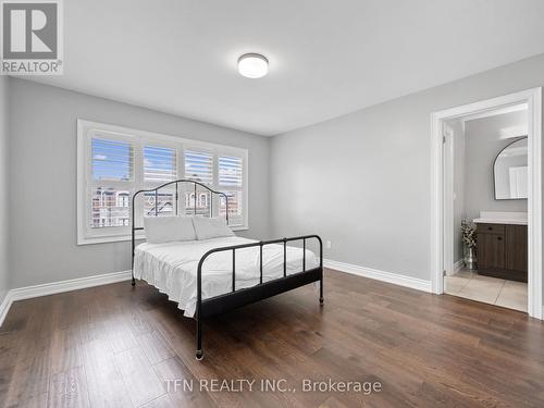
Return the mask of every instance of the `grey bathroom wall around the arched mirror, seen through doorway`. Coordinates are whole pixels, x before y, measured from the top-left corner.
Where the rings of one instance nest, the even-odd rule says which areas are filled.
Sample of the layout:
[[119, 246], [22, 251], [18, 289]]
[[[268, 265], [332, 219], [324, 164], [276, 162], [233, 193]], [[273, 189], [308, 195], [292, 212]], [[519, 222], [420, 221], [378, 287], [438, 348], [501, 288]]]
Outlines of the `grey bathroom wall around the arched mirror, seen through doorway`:
[[527, 212], [526, 200], [495, 200], [493, 164], [495, 158], [515, 139], [502, 138], [502, 131], [527, 124], [527, 111], [482, 118], [465, 123], [466, 172], [465, 206], [467, 217], [474, 219], [480, 211]]

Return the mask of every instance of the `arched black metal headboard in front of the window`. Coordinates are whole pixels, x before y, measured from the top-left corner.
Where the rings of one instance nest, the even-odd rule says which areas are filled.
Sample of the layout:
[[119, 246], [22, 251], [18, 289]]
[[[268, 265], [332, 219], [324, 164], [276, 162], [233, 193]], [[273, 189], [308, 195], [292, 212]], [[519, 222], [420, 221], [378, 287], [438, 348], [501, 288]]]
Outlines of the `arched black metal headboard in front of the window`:
[[[189, 184], [193, 184], [194, 186], [194, 190], [195, 190], [195, 206], [194, 206], [194, 214], [196, 215], [197, 214], [197, 187], [200, 186], [205, 189], [207, 189], [209, 193], [210, 193], [210, 196], [213, 195], [213, 194], [217, 194], [218, 196], [223, 196], [225, 198], [225, 219], [226, 219], [226, 225], [228, 225], [228, 197], [225, 193], [222, 193], [222, 191], [217, 191], [210, 187], [208, 187], [206, 184], [202, 184], [200, 182], [196, 182], [194, 180], [185, 180], [185, 178], [181, 178], [181, 180], [174, 180], [172, 182], [169, 182], [169, 183], [164, 183], [164, 184], [161, 184], [160, 186], [157, 186], [154, 188], [150, 188], [150, 189], [140, 189], [138, 191], [136, 191], [133, 196], [133, 200], [132, 200], [132, 207], [131, 207], [131, 227], [132, 227], [132, 243], [133, 243], [133, 270], [134, 270], [134, 249], [136, 247], [135, 245], [135, 240], [136, 240], [136, 231], [141, 231], [144, 230], [144, 226], [136, 226], [135, 225], [135, 203], [136, 203], [136, 197], [140, 194], [146, 194], [146, 193], [154, 193], [154, 215], [159, 215], [160, 213], [160, 210], [159, 209], [159, 190], [165, 188], [165, 187], [169, 187], [169, 186], [172, 186], [172, 185], [175, 185], [175, 211], [176, 211], [176, 215], [178, 215], [178, 202], [180, 202], [180, 184], [181, 183], [189, 183]], [[213, 197], [213, 196], [212, 196]], [[164, 207], [164, 206], [163, 206]], [[153, 211], [151, 211], [153, 212]], [[209, 214], [210, 217], [213, 215], [213, 199], [210, 199], [210, 211], [209, 211]]]

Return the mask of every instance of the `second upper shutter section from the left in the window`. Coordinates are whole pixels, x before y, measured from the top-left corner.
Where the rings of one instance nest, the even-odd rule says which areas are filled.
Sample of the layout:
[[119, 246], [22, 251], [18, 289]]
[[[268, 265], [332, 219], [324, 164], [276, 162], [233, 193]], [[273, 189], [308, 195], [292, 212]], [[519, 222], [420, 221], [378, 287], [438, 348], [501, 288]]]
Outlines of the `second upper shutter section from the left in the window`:
[[170, 147], [144, 147], [144, 181], [157, 184], [177, 178], [176, 150]]

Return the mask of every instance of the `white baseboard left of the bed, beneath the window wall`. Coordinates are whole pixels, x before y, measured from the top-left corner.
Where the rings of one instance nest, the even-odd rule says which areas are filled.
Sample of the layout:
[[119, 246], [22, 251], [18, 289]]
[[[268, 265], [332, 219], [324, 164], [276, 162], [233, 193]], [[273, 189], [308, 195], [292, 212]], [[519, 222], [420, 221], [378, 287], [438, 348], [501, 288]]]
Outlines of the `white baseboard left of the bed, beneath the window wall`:
[[2, 325], [3, 320], [14, 301], [29, 299], [33, 297], [54, 295], [63, 292], [84, 289], [86, 287], [108, 285], [110, 283], [128, 281], [129, 279], [131, 271], [123, 271], [11, 289], [5, 295], [2, 305], [0, 305], [0, 325]]

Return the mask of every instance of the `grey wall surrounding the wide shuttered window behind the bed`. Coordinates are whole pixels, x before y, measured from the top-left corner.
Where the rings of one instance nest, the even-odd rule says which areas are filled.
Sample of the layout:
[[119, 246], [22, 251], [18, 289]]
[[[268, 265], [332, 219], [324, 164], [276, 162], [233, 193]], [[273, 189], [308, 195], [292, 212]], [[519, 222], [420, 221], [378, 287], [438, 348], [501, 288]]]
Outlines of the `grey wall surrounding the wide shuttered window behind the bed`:
[[15, 78], [9, 97], [12, 287], [131, 268], [129, 242], [76, 245], [77, 118], [249, 149], [249, 231], [238, 235], [269, 237], [268, 138]]

